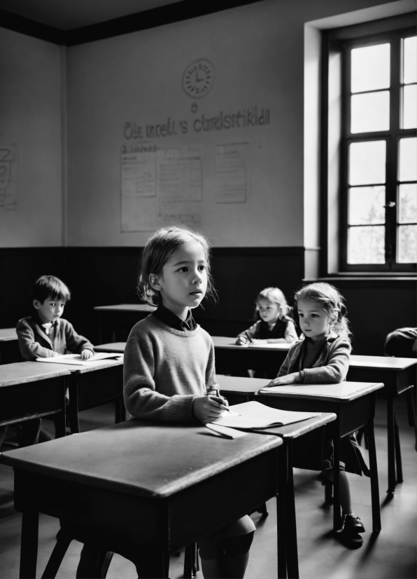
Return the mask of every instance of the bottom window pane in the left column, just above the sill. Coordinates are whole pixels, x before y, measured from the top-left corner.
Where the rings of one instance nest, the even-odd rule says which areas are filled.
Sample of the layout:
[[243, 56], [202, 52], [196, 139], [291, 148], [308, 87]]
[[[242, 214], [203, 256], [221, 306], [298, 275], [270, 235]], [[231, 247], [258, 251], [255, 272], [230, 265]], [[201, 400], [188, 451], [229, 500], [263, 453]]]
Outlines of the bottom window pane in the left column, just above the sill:
[[348, 264], [385, 264], [385, 227], [351, 227]]

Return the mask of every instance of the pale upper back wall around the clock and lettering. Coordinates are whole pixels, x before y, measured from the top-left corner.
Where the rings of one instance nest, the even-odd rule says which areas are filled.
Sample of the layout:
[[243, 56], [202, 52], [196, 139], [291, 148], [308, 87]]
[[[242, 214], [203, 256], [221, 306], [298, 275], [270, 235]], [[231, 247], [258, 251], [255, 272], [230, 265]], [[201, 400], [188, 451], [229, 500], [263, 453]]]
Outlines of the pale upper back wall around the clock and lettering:
[[[214, 116], [254, 104], [270, 109], [270, 125], [189, 131], [150, 142], [202, 148], [200, 229], [215, 245], [299, 246], [304, 236], [315, 245], [317, 233], [305, 228], [303, 219], [304, 23], [374, 4], [267, 0], [69, 48], [69, 245], [143, 245], [149, 236], [120, 232], [126, 121], [146, 125], [170, 117], [190, 125], [202, 113]], [[198, 57], [213, 62], [216, 79], [194, 115], [181, 76]], [[249, 144], [248, 200], [215, 204], [214, 148], [234, 142]]]

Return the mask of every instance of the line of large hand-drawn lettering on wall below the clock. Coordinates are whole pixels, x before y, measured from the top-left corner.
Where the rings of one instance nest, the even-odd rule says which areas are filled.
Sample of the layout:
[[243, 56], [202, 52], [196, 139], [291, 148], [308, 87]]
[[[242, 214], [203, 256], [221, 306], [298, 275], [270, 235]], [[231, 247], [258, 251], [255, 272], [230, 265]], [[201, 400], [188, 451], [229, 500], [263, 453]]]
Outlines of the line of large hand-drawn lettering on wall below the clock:
[[243, 129], [269, 125], [271, 114], [264, 107], [248, 107], [234, 112], [219, 111], [214, 116], [200, 114], [191, 119], [172, 119], [168, 117], [161, 123], [145, 124], [136, 121], [126, 121], [123, 135], [130, 139], [154, 139], [155, 137], [175, 137], [186, 135], [188, 132], [209, 132], [228, 129]]

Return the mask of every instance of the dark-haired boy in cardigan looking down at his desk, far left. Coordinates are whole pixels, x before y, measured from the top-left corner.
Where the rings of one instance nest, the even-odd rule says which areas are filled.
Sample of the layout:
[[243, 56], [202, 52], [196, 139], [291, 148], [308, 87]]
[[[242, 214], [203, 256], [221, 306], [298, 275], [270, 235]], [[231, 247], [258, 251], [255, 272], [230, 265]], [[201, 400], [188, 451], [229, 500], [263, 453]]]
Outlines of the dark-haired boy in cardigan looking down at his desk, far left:
[[[36, 280], [32, 292], [34, 314], [22, 318], [16, 327], [20, 354], [25, 360], [52, 357], [67, 351], [81, 354], [83, 360], [94, 355], [92, 344], [77, 334], [72, 325], [61, 316], [71, 294], [68, 287], [54, 275], [42, 275]], [[22, 423], [20, 447], [50, 440], [48, 432], [41, 430], [41, 418]]]

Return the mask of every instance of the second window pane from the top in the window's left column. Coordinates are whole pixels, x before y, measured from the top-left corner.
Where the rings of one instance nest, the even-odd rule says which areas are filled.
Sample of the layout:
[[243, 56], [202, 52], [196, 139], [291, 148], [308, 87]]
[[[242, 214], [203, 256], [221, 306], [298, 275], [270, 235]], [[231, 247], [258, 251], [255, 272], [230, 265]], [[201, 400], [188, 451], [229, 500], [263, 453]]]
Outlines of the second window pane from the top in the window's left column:
[[[411, 88], [411, 87], [407, 87]], [[390, 128], [390, 93], [365, 93], [351, 97], [351, 132]]]

